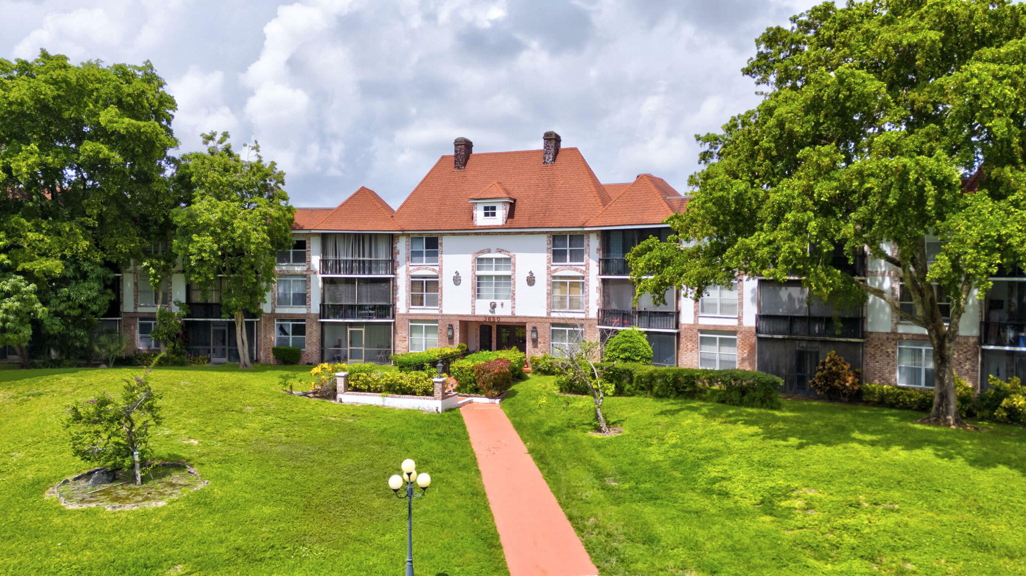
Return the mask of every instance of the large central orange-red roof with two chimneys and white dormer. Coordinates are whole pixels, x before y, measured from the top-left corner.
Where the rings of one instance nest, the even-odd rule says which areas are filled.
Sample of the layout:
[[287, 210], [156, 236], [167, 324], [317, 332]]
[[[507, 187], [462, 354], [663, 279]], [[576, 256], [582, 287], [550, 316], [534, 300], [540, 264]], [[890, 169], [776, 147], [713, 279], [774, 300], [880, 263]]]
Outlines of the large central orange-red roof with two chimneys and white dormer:
[[[505, 224], [474, 225], [468, 200], [496, 182], [516, 205]], [[561, 149], [552, 164], [543, 162], [541, 150], [473, 153], [462, 170], [446, 155], [399, 206], [395, 219], [409, 231], [580, 228], [608, 202], [608, 193], [576, 148]]]

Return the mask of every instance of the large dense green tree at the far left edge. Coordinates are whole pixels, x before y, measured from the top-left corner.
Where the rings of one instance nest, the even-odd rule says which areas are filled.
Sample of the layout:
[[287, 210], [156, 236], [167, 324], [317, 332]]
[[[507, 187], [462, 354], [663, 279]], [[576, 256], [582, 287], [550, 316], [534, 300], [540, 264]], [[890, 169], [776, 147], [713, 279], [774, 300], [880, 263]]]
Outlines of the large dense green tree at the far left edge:
[[149, 61], [0, 59], [0, 272], [37, 287], [66, 352], [113, 297], [100, 269], [168, 236], [174, 110]]

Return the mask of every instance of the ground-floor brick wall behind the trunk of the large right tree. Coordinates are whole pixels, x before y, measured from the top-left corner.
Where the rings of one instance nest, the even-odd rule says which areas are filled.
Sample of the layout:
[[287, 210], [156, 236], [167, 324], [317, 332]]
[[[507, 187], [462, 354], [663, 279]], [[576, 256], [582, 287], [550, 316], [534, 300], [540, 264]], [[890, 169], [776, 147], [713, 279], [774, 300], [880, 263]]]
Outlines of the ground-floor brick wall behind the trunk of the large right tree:
[[[875, 384], [898, 383], [898, 342], [929, 340], [923, 334], [868, 332], [863, 344], [862, 376]], [[980, 382], [980, 345], [975, 336], [959, 336], [952, 358], [955, 374], [973, 386]]]

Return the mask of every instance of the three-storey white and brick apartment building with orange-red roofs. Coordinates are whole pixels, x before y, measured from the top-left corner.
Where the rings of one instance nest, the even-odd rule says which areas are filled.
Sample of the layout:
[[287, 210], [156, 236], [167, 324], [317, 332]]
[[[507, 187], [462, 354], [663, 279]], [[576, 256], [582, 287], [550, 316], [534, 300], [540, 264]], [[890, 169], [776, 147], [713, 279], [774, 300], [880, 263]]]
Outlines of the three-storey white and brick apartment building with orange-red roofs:
[[[635, 303], [626, 254], [648, 237], [665, 239], [663, 221], [686, 204], [652, 174], [601, 183], [554, 132], [541, 149], [517, 152], [474, 153], [469, 139], [457, 138], [397, 209], [361, 188], [334, 208], [297, 210], [276, 286], [260, 318], [246, 320], [251, 352], [273, 362], [272, 346], [294, 345], [304, 363], [388, 363], [394, 353], [461, 342], [558, 354], [576, 339], [604, 341], [635, 327], [655, 364], [763, 370], [796, 394], [810, 392], [830, 351], [867, 381], [932, 385], [922, 329], [879, 300], [836, 310], [811, 298], [797, 279], [739, 278], [699, 299], [670, 291], [663, 303], [649, 295]], [[928, 242], [928, 252], [936, 248]], [[884, 262], [835, 257], [902, 296]], [[104, 322], [150, 348], [157, 294], [144, 276], [122, 272], [112, 307], [120, 314]], [[961, 323], [955, 365], [972, 383], [1026, 374], [1026, 277], [1014, 271], [994, 281]], [[190, 354], [238, 358], [216, 290], [203, 297], [174, 275], [163, 292], [189, 304]]]

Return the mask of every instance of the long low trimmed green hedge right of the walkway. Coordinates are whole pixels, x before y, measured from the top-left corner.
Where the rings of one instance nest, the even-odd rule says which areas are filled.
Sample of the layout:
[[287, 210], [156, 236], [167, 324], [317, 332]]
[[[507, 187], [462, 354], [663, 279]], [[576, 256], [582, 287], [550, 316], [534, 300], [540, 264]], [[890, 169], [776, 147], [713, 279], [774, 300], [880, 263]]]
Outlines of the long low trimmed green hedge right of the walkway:
[[[777, 376], [754, 370], [706, 370], [698, 368], [660, 367], [644, 364], [598, 364], [606, 381], [614, 383], [617, 396], [649, 396], [653, 398], [702, 399], [751, 408], [780, 408], [780, 386]], [[556, 378], [560, 392], [589, 394], [570, 378]]]

